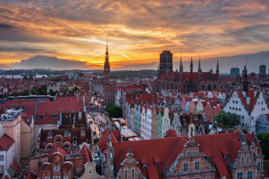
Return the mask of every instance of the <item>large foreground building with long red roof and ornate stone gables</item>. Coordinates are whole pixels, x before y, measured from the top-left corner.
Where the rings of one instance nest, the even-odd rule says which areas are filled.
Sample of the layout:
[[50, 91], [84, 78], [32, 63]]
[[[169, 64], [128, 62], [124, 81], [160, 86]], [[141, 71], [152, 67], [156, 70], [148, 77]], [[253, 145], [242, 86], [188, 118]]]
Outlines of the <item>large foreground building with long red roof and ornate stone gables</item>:
[[108, 178], [264, 178], [254, 134], [178, 137], [170, 129], [164, 139], [120, 142], [115, 132], [105, 132], [98, 143]]

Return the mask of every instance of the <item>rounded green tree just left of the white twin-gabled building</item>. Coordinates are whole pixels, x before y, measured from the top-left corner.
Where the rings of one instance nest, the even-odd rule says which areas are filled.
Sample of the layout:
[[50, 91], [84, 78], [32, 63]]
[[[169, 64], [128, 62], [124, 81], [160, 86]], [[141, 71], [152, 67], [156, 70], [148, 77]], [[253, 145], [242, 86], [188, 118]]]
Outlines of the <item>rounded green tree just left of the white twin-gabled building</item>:
[[224, 112], [224, 110], [219, 111], [219, 114], [217, 114], [215, 120], [222, 123], [222, 125], [227, 128], [235, 127], [240, 122], [238, 115], [231, 112]]

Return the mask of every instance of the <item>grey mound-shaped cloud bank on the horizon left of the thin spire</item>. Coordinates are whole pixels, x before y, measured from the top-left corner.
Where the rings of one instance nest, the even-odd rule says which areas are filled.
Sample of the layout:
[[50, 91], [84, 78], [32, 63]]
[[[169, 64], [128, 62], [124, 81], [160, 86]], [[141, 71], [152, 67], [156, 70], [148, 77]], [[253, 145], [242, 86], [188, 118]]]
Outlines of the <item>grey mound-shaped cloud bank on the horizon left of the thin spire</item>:
[[11, 64], [12, 69], [86, 69], [84, 62], [58, 59], [57, 57], [34, 56]]

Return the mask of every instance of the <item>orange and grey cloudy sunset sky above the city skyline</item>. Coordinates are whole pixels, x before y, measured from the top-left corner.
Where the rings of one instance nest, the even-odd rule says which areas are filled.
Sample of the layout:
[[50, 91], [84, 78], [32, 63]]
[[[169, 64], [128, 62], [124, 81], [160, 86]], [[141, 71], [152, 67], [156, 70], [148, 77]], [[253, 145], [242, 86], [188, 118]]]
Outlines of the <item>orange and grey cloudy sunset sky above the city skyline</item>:
[[1, 0], [0, 67], [49, 56], [101, 69], [106, 40], [112, 69], [150, 69], [163, 50], [174, 62], [265, 52], [268, 12], [267, 0]]

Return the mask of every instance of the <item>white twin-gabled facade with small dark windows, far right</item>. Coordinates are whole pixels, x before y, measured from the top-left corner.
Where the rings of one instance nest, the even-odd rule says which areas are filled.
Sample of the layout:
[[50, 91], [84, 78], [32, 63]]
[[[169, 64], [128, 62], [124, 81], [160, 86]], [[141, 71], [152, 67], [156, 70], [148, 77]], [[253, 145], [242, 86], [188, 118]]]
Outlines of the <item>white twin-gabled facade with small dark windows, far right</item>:
[[[243, 96], [243, 100], [246, 101], [247, 108], [241, 101], [240, 95]], [[246, 95], [244, 91], [234, 91], [231, 93], [227, 105], [224, 107], [225, 112], [235, 113], [240, 117], [241, 127], [248, 129], [250, 132], [256, 132], [256, 121], [260, 115], [268, 113], [268, 106], [265, 102], [263, 92], [254, 91], [254, 96], [251, 98]], [[256, 98], [256, 100], [255, 100]], [[253, 110], [249, 111], [249, 105], [254, 103]]]

